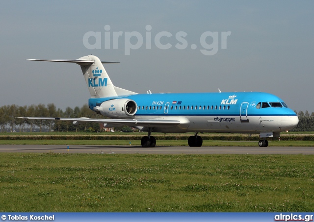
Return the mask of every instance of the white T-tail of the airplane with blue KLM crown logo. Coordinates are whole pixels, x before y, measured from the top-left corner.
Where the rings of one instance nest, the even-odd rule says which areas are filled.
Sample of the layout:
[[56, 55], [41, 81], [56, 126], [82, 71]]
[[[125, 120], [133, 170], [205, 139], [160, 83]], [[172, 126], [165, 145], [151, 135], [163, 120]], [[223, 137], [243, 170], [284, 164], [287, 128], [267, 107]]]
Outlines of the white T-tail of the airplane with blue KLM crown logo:
[[136, 94], [134, 92], [115, 87], [103, 63], [119, 63], [119, 62], [102, 62], [95, 55], [83, 56], [76, 60], [48, 60], [48, 59], [28, 59], [32, 61], [47, 62], [71, 62], [80, 65], [83, 72], [89, 93], [92, 98], [117, 97]]

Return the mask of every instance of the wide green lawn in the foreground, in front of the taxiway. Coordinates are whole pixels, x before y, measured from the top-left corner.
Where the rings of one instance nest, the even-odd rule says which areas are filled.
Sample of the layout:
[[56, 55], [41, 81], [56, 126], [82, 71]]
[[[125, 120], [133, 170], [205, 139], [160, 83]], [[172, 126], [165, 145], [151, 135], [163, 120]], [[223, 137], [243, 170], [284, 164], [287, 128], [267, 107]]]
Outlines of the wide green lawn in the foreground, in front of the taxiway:
[[313, 155], [0, 153], [4, 212], [312, 212]]

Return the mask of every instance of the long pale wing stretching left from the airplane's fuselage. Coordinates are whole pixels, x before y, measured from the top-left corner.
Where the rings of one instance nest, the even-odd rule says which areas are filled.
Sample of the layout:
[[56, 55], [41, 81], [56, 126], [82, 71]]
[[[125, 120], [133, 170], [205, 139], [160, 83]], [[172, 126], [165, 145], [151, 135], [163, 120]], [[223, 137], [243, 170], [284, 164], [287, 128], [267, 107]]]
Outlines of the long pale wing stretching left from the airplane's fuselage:
[[181, 123], [179, 120], [165, 120], [165, 119], [154, 119], [154, 120], [124, 120], [124, 119], [89, 119], [89, 118], [53, 118], [53, 117], [17, 117], [26, 120], [62, 120], [62, 121], [73, 121], [77, 123], [107, 123], [115, 125], [130, 125], [130, 126], [143, 126], [143, 127], [171, 127]]

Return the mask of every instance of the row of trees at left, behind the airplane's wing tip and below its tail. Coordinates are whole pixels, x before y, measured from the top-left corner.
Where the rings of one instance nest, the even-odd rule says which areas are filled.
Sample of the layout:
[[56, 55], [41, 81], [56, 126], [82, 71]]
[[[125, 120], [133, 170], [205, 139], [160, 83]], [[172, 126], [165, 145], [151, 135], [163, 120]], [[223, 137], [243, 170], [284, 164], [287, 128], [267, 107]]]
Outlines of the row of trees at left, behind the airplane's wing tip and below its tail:
[[78, 106], [72, 109], [67, 107], [65, 111], [56, 109], [53, 103], [29, 106], [18, 106], [18, 105], [5, 105], [0, 107], [0, 128], [1, 132], [4, 132], [5, 127], [9, 126], [10, 131], [14, 129], [16, 132], [23, 132], [27, 127], [32, 132], [34, 127], [39, 127], [41, 132], [43, 127], [48, 127], [49, 131], [58, 132], [69, 132], [69, 131], [83, 131], [90, 130], [97, 131], [100, 128], [99, 123], [84, 123], [74, 125], [68, 121], [51, 121], [51, 120], [27, 120], [18, 119], [16, 117], [64, 117], [64, 118], [80, 118], [87, 117], [93, 119], [104, 118], [101, 115], [96, 114], [89, 109], [88, 105], [85, 104], [81, 108]]

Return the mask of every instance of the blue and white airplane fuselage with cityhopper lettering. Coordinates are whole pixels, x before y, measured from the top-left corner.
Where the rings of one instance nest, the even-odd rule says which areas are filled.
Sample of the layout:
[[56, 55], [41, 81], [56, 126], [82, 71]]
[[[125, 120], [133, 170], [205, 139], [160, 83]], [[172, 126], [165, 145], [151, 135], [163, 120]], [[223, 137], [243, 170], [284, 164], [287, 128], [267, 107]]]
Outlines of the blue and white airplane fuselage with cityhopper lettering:
[[[131, 99], [137, 110], [125, 119], [187, 119], [180, 127], [160, 132], [281, 132], [298, 123], [297, 115], [282, 99], [268, 93], [137, 94], [120, 98], [91, 98], [89, 107], [112, 99]], [[105, 107], [105, 109], [119, 107]], [[111, 118], [123, 118], [110, 116]]]

